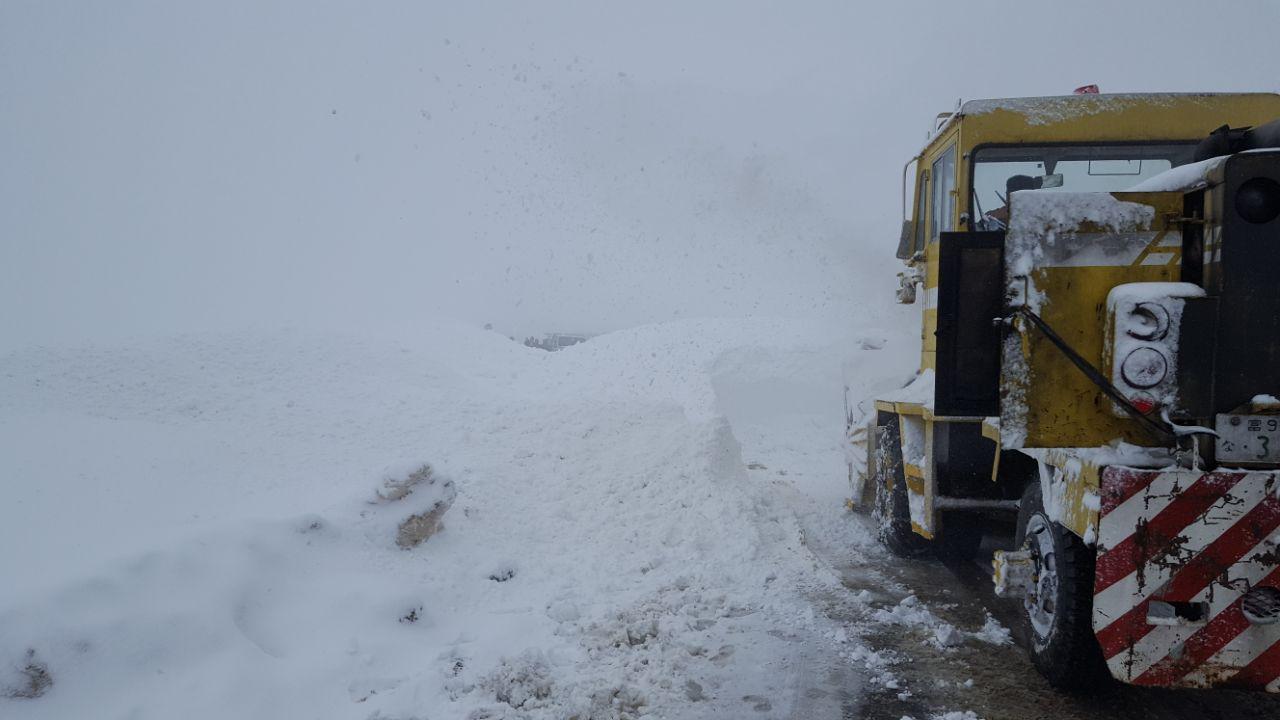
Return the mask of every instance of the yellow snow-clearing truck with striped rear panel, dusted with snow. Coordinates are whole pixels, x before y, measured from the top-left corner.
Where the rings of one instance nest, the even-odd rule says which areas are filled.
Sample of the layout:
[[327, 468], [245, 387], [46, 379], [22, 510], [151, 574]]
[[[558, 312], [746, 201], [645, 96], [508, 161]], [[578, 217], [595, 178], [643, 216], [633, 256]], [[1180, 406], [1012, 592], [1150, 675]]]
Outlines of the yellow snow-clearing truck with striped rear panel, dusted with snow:
[[1055, 687], [1280, 691], [1277, 118], [970, 101], [904, 172], [920, 370], [850, 420], [854, 498], [899, 555], [1012, 528], [996, 593]]

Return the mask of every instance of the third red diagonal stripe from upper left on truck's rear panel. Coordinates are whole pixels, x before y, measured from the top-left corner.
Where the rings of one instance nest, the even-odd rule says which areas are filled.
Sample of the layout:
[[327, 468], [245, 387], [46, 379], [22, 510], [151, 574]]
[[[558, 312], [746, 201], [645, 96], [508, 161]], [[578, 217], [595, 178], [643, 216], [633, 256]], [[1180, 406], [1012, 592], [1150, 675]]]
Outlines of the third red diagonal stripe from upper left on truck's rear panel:
[[[1280, 527], [1280, 498], [1267, 496], [1225, 533], [1210, 543], [1170, 579], [1160, 600], [1185, 602], [1194, 598], [1228, 568]], [[1268, 575], [1270, 578], [1270, 575]], [[1266, 582], [1266, 580], [1263, 580]], [[1132, 607], [1106, 628], [1098, 630], [1098, 644], [1107, 660], [1147, 635], [1155, 625], [1147, 624], [1151, 598]], [[1225, 610], [1224, 610], [1225, 612]], [[1243, 616], [1242, 616], [1243, 618]], [[1216, 620], [1216, 618], [1215, 618]], [[1212, 624], [1212, 620], [1210, 621]], [[1234, 637], [1234, 635], [1233, 635]], [[1230, 642], [1231, 638], [1226, 638]], [[1225, 642], [1224, 642], [1225, 644]]]

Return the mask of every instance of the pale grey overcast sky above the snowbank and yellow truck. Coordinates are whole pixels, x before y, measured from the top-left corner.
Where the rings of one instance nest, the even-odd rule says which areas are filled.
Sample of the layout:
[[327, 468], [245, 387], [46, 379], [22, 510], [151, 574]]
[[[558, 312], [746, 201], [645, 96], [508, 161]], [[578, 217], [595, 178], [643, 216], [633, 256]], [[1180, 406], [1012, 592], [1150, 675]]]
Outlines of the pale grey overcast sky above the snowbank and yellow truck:
[[865, 311], [957, 99], [1280, 90], [1280, 3], [0, 3], [0, 348]]

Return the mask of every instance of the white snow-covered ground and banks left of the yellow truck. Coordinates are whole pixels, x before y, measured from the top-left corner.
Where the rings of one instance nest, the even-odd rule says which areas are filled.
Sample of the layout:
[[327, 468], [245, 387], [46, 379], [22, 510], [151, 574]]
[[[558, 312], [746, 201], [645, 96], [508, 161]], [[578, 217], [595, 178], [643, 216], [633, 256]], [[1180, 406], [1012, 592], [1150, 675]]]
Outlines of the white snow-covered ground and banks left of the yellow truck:
[[[3, 356], [0, 685], [52, 684], [0, 714], [818, 712], [806, 675], [851, 655], [815, 548], [870, 542], [841, 506], [842, 378], [914, 368], [901, 322], [873, 324]], [[424, 464], [435, 484], [379, 501]], [[399, 548], [439, 498], [443, 530]]]

